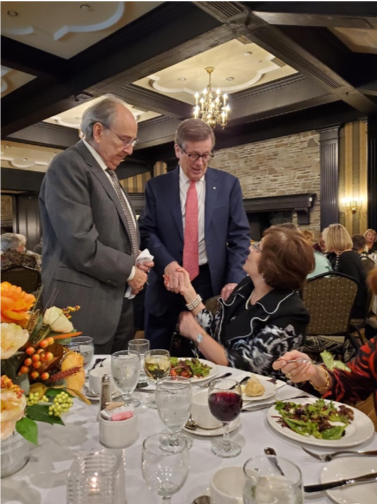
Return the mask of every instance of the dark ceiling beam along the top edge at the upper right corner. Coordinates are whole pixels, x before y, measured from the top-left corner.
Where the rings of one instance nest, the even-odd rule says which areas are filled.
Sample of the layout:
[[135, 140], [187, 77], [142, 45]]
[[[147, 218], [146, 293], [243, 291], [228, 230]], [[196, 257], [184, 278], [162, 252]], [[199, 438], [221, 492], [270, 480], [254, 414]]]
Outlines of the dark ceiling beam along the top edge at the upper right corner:
[[375, 2], [241, 2], [254, 14], [274, 25], [373, 28]]

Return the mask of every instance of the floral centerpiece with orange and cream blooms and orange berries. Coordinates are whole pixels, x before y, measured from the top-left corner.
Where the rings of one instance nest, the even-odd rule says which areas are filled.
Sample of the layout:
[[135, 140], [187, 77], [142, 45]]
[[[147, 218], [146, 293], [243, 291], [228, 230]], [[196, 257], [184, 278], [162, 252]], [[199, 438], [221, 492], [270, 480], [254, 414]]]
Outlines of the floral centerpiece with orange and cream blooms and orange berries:
[[[61, 414], [85, 381], [83, 357], [64, 347], [74, 331], [71, 312], [35, 309], [36, 298], [0, 283], [0, 442], [17, 431], [38, 442], [38, 421], [64, 425]], [[34, 308], [33, 308], [34, 307]]]

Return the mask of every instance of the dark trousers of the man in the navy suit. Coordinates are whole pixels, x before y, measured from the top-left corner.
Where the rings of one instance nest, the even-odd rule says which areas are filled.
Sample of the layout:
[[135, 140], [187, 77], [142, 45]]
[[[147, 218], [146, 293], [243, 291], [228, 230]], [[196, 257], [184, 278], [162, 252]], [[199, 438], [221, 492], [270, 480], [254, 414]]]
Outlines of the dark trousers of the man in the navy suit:
[[[200, 266], [199, 275], [192, 281], [192, 285], [203, 300], [214, 295], [207, 264]], [[175, 294], [166, 312], [160, 316], [153, 315], [145, 310], [145, 337], [149, 339], [151, 349], [165, 348], [169, 350], [171, 338], [176, 329], [179, 314], [182, 311], [187, 311], [187, 308], [185, 299], [181, 294]]]

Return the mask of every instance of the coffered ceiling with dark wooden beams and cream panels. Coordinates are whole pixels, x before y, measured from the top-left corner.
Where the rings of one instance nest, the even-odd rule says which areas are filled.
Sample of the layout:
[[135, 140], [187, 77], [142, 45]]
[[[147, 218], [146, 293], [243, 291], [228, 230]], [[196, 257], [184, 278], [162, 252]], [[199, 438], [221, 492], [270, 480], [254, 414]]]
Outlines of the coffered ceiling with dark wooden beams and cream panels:
[[231, 107], [219, 148], [376, 114], [376, 5], [0, 2], [0, 166], [45, 171], [109, 93], [139, 123], [124, 173], [173, 162], [208, 66]]

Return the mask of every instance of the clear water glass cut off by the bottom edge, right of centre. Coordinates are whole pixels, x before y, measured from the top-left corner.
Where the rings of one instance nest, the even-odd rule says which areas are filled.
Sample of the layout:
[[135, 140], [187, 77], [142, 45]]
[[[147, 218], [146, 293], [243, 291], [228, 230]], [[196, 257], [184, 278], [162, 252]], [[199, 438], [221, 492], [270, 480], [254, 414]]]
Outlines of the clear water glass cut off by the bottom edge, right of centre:
[[243, 470], [244, 504], [304, 504], [301, 471], [290, 460], [261, 455], [247, 460]]

